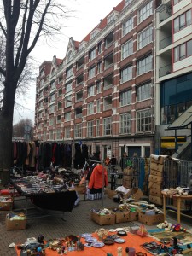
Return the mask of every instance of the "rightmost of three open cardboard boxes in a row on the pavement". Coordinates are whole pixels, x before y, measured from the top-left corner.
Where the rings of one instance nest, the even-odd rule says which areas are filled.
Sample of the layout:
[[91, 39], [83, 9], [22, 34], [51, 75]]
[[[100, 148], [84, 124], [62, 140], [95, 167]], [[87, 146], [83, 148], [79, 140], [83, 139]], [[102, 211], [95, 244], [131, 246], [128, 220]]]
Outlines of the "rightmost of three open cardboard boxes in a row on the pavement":
[[141, 222], [142, 224], [146, 224], [148, 226], [160, 224], [164, 222], [164, 214], [159, 213], [155, 215], [146, 215], [143, 212], [138, 213], [138, 221]]

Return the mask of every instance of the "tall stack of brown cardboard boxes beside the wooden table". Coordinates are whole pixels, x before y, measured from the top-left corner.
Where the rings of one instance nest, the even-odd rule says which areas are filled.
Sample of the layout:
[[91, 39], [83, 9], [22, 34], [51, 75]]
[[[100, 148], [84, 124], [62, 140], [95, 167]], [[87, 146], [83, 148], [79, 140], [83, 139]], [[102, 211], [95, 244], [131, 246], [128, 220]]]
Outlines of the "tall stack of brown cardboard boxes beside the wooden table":
[[165, 155], [152, 154], [150, 157], [150, 175], [148, 177], [149, 201], [159, 206], [163, 205], [161, 190], [163, 189], [165, 159]]

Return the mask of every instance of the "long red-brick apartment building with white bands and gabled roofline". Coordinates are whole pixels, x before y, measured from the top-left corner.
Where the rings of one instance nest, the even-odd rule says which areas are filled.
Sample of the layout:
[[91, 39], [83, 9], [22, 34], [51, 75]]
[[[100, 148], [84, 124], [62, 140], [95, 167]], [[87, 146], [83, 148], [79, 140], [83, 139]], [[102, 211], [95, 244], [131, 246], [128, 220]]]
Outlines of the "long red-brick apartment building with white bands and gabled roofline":
[[[84, 143], [90, 153], [101, 150], [102, 159], [110, 154], [119, 159], [125, 151], [154, 154], [154, 131], [160, 126], [154, 119], [154, 21], [160, 3], [121, 1], [81, 42], [69, 39], [64, 59], [42, 63], [38, 140]], [[162, 86], [160, 78], [156, 84]]]

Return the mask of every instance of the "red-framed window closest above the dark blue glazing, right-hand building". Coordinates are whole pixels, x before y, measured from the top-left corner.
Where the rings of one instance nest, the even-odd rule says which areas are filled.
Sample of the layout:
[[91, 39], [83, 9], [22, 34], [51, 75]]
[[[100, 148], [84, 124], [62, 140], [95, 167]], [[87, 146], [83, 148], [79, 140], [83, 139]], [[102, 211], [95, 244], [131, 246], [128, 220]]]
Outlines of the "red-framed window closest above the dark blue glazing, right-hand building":
[[192, 40], [180, 44], [174, 49], [174, 61], [181, 61], [192, 55]]

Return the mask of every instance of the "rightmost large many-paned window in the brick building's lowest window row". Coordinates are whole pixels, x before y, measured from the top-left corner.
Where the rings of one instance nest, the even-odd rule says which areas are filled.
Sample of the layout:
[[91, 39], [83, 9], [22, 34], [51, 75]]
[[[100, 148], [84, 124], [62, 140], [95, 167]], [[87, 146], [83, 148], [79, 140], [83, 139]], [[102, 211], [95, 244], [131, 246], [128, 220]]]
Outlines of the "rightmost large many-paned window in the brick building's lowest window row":
[[137, 132], [151, 131], [151, 109], [137, 112]]

